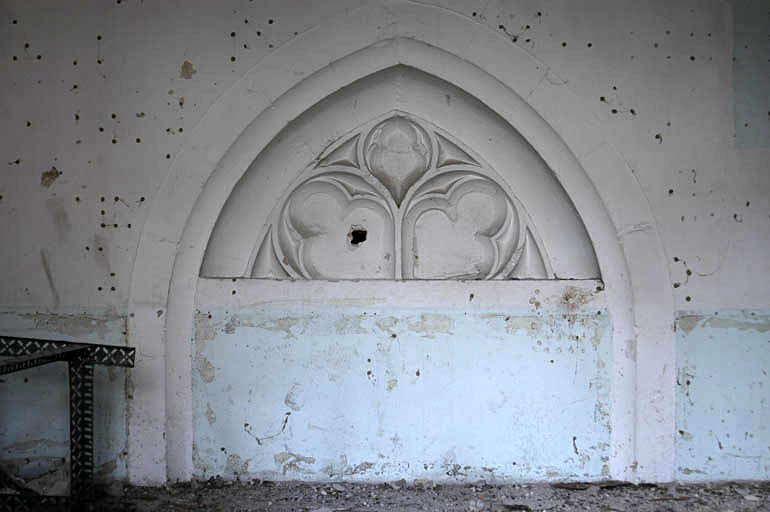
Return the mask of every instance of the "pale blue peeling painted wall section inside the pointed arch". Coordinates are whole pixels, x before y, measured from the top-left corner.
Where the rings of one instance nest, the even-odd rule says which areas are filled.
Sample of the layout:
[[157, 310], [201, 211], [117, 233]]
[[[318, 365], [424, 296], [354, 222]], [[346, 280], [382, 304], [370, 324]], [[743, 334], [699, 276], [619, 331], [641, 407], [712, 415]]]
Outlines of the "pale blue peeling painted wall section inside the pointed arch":
[[195, 473], [602, 478], [609, 324], [595, 310], [202, 312]]

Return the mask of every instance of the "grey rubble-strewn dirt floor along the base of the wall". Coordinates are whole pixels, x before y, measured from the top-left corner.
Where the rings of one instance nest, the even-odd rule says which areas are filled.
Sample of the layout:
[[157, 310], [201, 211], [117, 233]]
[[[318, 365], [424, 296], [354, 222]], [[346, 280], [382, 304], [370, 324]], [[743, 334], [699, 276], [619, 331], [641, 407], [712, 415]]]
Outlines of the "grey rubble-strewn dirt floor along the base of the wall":
[[435, 485], [226, 482], [213, 478], [162, 488], [124, 487], [100, 498], [100, 509], [149, 511], [770, 511], [770, 482], [631, 485]]

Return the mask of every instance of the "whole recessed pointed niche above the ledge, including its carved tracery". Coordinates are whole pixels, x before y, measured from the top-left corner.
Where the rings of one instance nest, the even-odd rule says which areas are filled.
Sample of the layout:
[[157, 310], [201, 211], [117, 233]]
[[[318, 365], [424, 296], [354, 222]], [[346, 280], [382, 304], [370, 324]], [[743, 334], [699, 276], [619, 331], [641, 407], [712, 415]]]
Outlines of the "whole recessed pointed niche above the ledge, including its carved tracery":
[[600, 277], [572, 201], [521, 134], [404, 65], [343, 87], [273, 139], [227, 199], [200, 274]]

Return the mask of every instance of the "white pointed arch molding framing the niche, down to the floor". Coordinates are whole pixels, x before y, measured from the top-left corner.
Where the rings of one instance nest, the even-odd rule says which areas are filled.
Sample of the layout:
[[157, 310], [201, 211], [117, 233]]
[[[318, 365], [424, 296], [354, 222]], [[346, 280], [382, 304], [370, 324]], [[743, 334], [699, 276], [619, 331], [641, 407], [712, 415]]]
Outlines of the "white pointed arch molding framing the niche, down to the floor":
[[153, 199], [129, 304], [129, 343], [139, 349], [131, 481], [192, 476], [195, 286], [216, 219], [244, 170], [311, 106], [399, 64], [497, 112], [553, 170], [593, 242], [610, 304], [611, 477], [670, 480], [672, 298], [655, 223], [630, 169], [581, 99], [543, 80], [551, 71], [500, 34], [438, 7], [369, 2], [277, 49], [236, 83], [190, 136]]

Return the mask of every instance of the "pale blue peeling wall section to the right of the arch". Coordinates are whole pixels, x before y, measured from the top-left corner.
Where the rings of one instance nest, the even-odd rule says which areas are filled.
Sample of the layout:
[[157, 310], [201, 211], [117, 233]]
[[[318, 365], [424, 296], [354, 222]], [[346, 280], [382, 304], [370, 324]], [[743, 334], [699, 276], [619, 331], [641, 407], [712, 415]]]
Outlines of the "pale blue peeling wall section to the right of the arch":
[[770, 478], [770, 313], [677, 320], [676, 478]]

